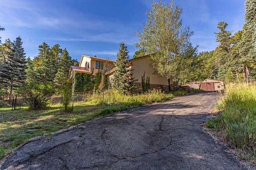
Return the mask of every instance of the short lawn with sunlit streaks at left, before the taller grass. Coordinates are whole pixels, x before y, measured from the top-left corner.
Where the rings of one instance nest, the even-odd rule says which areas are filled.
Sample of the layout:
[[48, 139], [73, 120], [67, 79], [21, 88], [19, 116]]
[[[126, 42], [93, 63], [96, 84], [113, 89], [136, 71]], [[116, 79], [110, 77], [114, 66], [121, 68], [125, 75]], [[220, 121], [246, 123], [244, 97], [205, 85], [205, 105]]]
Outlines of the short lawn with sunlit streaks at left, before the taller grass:
[[10, 149], [30, 138], [51, 134], [97, 117], [97, 105], [88, 103], [74, 103], [73, 113], [61, 113], [60, 105], [52, 105], [44, 111], [4, 109], [0, 110], [0, 158], [4, 158], [6, 151], [10, 152]]

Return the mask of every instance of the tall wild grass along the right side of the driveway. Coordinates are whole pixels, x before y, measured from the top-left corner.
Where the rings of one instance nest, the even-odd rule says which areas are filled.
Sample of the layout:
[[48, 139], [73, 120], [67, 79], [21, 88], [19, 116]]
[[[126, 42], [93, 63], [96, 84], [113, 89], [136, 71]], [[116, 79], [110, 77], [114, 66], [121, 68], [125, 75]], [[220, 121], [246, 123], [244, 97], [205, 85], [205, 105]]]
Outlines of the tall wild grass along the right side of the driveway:
[[239, 158], [256, 163], [256, 86], [229, 84], [216, 107], [221, 114], [206, 126], [224, 132], [223, 140], [239, 152]]

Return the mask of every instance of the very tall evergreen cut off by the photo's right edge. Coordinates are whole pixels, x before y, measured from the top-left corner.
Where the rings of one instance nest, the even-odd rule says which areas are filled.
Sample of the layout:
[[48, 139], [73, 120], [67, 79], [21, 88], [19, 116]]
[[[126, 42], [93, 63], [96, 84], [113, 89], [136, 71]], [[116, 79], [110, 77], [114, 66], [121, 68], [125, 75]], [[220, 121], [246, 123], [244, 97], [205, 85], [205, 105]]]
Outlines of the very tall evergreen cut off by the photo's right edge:
[[253, 79], [256, 76], [256, 1], [246, 0], [244, 7], [244, 34], [239, 43], [239, 55], [242, 63], [250, 70], [249, 78]]

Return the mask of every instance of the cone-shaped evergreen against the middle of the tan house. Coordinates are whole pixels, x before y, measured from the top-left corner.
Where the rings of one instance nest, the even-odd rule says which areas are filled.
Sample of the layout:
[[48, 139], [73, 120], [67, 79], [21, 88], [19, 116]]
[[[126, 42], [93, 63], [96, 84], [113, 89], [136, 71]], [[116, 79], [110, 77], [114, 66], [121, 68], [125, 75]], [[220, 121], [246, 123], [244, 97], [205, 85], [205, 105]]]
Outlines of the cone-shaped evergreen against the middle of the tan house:
[[113, 88], [118, 92], [128, 94], [132, 91], [133, 81], [132, 81], [132, 70], [128, 63], [129, 51], [125, 46], [124, 42], [119, 44], [119, 50], [116, 59], [116, 70], [113, 79]]

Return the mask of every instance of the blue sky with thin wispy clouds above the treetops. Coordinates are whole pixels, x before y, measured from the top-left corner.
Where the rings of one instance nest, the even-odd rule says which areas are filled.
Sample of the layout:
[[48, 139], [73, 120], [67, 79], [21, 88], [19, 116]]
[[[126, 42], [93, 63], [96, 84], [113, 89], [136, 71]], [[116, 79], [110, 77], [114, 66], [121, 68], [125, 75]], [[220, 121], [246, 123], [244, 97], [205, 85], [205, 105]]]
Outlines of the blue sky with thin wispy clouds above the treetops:
[[[162, 0], [170, 3], [170, 0]], [[2, 42], [20, 36], [26, 56], [38, 55], [38, 45], [66, 47], [73, 59], [81, 55], [116, 59], [124, 41], [130, 58], [137, 49], [135, 32], [142, 30], [152, 0], [1, 0]], [[211, 51], [218, 43], [219, 21], [233, 34], [244, 25], [244, 0], [175, 0], [181, 6], [183, 26], [194, 31], [191, 42], [198, 52]]]

